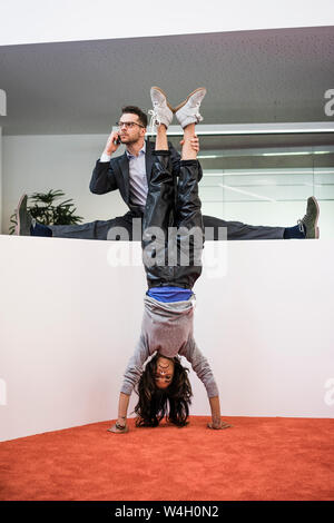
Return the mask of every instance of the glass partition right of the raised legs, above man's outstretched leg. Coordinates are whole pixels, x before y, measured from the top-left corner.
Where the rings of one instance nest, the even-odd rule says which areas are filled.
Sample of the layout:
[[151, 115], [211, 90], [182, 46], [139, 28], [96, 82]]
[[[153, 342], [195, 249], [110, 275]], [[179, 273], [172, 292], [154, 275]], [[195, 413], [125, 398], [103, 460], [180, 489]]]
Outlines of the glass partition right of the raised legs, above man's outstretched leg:
[[[333, 132], [198, 136], [203, 214], [287, 227], [303, 218], [307, 197], [315, 196], [321, 238], [334, 237]], [[179, 139], [169, 138], [175, 146]]]

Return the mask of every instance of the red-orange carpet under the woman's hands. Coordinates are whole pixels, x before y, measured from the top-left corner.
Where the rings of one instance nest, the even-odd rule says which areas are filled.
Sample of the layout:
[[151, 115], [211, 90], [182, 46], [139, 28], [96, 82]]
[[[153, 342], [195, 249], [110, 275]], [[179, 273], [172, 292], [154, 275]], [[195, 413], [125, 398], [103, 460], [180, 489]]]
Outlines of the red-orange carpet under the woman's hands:
[[0, 443], [0, 500], [334, 500], [334, 420], [225, 417], [116, 435], [96, 423]]

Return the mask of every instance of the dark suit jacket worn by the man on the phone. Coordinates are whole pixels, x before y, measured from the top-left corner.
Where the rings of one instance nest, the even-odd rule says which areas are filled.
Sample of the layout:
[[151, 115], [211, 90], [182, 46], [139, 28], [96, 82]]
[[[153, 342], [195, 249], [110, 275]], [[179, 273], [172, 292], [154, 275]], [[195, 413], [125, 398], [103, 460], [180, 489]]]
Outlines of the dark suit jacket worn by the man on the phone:
[[[177, 150], [168, 142], [171, 154], [173, 174], [178, 175], [180, 156]], [[153, 151], [155, 144], [146, 140], [146, 176], [149, 185], [151, 167], [154, 164]], [[202, 178], [202, 169], [199, 169], [199, 179]], [[176, 178], [175, 178], [176, 179]], [[130, 200], [130, 181], [129, 181], [129, 160], [126, 152], [110, 159], [110, 162], [100, 162], [97, 160], [92, 171], [89, 189], [96, 195], [105, 195], [111, 190], [119, 189], [124, 201], [130, 210], [138, 211], [138, 206], [131, 204]]]

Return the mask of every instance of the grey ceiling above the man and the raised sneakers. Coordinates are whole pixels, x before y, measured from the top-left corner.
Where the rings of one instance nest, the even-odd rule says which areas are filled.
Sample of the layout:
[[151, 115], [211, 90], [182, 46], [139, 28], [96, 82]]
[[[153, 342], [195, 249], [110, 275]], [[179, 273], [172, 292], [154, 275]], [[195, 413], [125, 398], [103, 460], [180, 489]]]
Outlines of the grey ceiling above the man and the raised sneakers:
[[[206, 86], [204, 124], [333, 121], [334, 27], [0, 47], [3, 135], [107, 134], [149, 88]], [[333, 140], [332, 140], [333, 142]]]

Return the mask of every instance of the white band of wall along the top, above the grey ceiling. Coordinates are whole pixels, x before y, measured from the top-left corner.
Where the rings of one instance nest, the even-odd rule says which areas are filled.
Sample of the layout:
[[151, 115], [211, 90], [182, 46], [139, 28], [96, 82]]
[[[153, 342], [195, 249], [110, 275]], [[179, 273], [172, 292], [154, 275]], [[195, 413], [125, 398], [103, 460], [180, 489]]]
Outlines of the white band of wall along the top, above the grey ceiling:
[[334, 24], [332, 0], [316, 7], [313, 0], [210, 0], [209, 9], [199, 0], [169, 0], [159, 16], [155, 0], [129, 0], [127, 14], [109, 0], [1, 2], [0, 45]]

